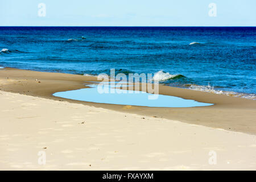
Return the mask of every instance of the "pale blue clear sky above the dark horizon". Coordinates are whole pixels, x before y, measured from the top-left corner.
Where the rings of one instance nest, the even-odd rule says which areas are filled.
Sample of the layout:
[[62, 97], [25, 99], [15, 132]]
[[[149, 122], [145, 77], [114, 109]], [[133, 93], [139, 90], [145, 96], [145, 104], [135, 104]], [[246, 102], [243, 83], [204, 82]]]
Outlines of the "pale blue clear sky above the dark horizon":
[[0, 26], [256, 26], [255, 9], [255, 0], [0, 0]]

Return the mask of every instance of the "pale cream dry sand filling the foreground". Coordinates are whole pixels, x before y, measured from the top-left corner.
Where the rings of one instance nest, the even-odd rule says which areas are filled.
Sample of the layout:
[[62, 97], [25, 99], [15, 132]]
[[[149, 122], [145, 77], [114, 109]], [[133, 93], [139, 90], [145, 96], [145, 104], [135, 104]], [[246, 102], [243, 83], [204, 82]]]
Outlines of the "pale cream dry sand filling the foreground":
[[256, 169], [255, 135], [15, 93], [0, 102], [1, 170]]

